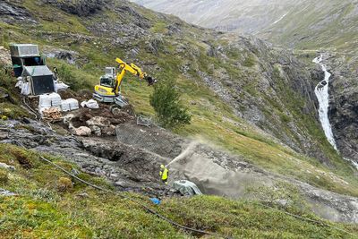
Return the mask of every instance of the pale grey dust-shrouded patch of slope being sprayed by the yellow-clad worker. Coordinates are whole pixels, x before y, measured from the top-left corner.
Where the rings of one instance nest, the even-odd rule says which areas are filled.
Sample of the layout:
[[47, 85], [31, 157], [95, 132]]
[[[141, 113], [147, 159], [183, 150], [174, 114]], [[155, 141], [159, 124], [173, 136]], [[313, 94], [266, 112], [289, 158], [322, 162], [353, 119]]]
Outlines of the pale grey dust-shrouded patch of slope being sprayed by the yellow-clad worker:
[[192, 181], [205, 194], [230, 198], [242, 197], [248, 187], [270, 184], [267, 177], [244, 168], [229, 166], [231, 164], [226, 162], [226, 158], [216, 158], [209, 150], [201, 147], [198, 141], [193, 141], [167, 165], [170, 166], [171, 176]]

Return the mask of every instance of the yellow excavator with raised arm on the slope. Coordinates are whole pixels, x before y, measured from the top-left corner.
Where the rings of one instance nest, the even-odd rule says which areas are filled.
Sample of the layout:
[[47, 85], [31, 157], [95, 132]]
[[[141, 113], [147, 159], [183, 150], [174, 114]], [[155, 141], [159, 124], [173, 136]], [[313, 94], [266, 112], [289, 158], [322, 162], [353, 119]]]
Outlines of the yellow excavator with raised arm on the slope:
[[99, 102], [115, 103], [111, 110], [114, 107], [123, 108], [129, 105], [121, 94], [121, 85], [125, 73], [129, 72], [138, 76], [141, 80], [147, 81], [149, 86], [157, 82], [135, 64], [126, 64], [119, 58], [116, 58], [115, 62], [119, 64], [118, 73], [115, 75], [114, 67], [107, 67], [105, 75], [101, 76], [99, 85], [95, 86], [95, 93], [93, 94], [93, 98], [96, 98]]

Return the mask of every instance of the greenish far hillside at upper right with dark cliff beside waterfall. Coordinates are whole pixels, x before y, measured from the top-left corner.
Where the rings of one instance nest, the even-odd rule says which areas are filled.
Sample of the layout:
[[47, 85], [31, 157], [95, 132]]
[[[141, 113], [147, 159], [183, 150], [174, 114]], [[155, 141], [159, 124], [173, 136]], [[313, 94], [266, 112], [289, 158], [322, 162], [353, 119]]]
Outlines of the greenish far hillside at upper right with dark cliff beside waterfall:
[[329, 119], [338, 149], [345, 158], [358, 162], [358, 67], [356, 1], [308, 1], [296, 8], [260, 36], [283, 46], [295, 47], [298, 54], [320, 49], [333, 73], [330, 91]]

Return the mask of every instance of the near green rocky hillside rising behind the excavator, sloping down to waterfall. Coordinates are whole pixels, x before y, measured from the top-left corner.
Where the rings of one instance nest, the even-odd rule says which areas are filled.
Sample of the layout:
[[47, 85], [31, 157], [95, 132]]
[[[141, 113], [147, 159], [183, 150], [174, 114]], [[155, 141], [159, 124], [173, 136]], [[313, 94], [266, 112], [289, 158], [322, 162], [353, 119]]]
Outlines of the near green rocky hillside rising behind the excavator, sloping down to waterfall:
[[[66, 73], [72, 90], [91, 89], [117, 56], [133, 61], [159, 81], [177, 80], [192, 124], [176, 132], [200, 134], [258, 166], [337, 192], [346, 185], [328, 187], [331, 179], [322, 172], [355, 182], [354, 168], [332, 149], [317, 120], [312, 90], [319, 74], [312, 77], [293, 55], [127, 2], [90, 3], [2, 2], [3, 43], [38, 43], [47, 55], [63, 58], [48, 63]], [[138, 113], [153, 114], [150, 92], [134, 78], [124, 82]], [[355, 194], [354, 184], [346, 192]]]

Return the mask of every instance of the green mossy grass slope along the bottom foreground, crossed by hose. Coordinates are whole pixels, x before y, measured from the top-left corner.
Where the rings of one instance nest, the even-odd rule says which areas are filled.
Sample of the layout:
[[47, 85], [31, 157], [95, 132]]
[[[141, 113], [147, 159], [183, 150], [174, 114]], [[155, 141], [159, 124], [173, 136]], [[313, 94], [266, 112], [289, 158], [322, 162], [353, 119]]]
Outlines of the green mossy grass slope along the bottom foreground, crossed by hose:
[[[8, 152], [0, 156], [0, 162], [16, 167], [13, 172], [0, 169], [0, 187], [18, 194], [0, 197], [1, 238], [198, 236], [178, 230], [132, 201], [98, 192], [72, 180], [53, 166], [40, 161], [30, 150], [9, 144], [0, 144], [0, 150]], [[46, 157], [68, 170], [75, 168], [62, 158]], [[82, 173], [79, 176], [93, 184], [111, 188], [101, 178]], [[304, 222], [252, 201], [200, 196], [191, 199], [165, 199], [160, 206], [154, 206], [140, 194], [125, 195], [185, 226], [234, 238], [354, 238], [354, 235]], [[300, 214], [305, 218], [318, 219], [310, 213]], [[356, 226], [334, 226], [358, 234]]]

